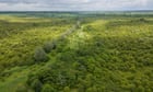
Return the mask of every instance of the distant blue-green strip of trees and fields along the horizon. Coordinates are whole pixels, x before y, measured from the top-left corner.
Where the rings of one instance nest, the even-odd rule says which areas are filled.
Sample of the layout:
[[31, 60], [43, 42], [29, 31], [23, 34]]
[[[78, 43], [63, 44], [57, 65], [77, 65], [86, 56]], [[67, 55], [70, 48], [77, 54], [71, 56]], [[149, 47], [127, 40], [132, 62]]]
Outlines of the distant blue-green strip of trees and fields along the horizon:
[[1, 11], [0, 14], [40, 18], [153, 16], [153, 11]]

